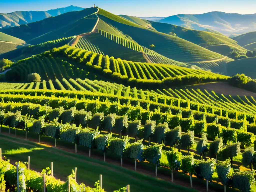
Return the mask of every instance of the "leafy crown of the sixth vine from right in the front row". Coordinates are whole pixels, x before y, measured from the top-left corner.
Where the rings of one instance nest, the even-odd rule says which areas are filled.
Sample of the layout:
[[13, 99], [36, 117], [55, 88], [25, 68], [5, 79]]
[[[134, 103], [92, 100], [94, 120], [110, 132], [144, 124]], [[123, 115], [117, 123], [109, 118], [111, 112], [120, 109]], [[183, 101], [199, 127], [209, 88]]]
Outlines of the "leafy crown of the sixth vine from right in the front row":
[[150, 145], [146, 146], [144, 148], [144, 158], [154, 165], [159, 166], [160, 159], [162, 156], [162, 148], [163, 144], [156, 144], [156, 145]]

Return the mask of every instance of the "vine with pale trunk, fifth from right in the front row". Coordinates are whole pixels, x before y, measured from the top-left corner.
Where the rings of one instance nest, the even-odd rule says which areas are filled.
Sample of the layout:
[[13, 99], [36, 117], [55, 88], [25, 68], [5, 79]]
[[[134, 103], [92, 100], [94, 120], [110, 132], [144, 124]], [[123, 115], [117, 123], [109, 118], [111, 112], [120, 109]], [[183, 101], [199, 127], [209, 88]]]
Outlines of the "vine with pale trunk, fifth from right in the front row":
[[172, 182], [173, 182], [173, 170], [177, 169], [181, 165], [182, 154], [176, 148], [171, 148], [170, 151], [166, 151], [169, 167], [172, 171]]

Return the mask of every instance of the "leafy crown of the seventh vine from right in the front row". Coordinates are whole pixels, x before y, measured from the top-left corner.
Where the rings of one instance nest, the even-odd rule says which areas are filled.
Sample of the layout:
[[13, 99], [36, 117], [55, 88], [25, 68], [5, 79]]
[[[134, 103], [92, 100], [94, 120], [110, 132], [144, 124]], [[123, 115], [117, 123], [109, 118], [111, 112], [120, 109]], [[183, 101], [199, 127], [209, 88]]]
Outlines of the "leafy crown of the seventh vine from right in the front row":
[[128, 149], [129, 150], [128, 157], [142, 161], [143, 160], [143, 148], [144, 147], [142, 144], [142, 140], [132, 143]]

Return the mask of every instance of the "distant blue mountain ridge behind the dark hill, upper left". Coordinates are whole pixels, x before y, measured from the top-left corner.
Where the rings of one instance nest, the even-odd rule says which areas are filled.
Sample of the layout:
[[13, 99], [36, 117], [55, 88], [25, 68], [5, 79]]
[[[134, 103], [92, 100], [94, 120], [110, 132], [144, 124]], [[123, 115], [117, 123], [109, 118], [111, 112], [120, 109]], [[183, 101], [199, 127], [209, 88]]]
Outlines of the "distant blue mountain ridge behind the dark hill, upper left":
[[80, 11], [83, 9], [84, 8], [82, 7], [71, 5], [58, 9], [50, 9], [48, 11], [15, 11], [6, 14], [0, 13], [0, 28], [19, 26], [21, 24], [40, 21], [51, 16], [57, 16], [71, 11]]

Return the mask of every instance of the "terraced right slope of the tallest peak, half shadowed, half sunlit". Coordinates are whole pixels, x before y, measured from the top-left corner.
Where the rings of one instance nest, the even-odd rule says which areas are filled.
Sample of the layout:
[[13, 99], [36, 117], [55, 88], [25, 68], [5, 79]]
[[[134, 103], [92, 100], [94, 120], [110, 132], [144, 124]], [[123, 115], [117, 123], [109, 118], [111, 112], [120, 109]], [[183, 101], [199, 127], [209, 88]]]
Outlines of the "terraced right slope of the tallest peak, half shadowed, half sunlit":
[[[225, 60], [225, 56], [209, 51], [179, 37], [144, 28], [143, 26], [139, 26], [138, 24], [132, 23], [124, 18], [110, 13], [106, 14], [106, 12], [103, 12], [104, 15], [101, 13], [102, 9], [100, 9], [98, 16], [105, 23], [118, 28], [124, 34], [129, 35], [141, 46], [149, 47], [149, 45], [154, 44], [156, 46], [155, 51], [167, 58], [185, 63], [211, 60], [214, 61], [221, 59], [223, 59], [221, 65], [222, 63], [224, 64], [228, 62]], [[113, 20], [112, 18], [115, 19]], [[197, 65], [197, 63], [195, 63], [195, 65]], [[212, 69], [212, 67], [209, 67], [209, 69]], [[212, 71], [214, 71], [214, 69], [212, 69]]]

